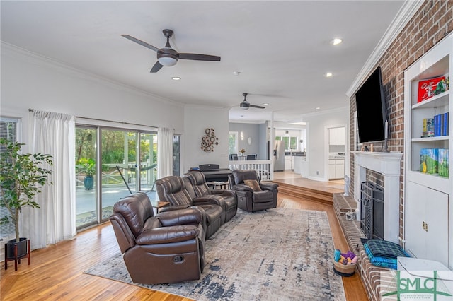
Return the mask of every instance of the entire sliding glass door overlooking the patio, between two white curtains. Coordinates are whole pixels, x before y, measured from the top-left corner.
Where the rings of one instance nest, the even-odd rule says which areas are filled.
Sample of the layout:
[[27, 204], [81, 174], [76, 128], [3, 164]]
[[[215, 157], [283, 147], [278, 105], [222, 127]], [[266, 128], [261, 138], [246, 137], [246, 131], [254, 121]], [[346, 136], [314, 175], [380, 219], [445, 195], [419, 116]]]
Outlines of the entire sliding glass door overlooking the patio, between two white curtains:
[[75, 160], [77, 229], [108, 220], [113, 205], [135, 191], [156, 199], [155, 132], [77, 126]]

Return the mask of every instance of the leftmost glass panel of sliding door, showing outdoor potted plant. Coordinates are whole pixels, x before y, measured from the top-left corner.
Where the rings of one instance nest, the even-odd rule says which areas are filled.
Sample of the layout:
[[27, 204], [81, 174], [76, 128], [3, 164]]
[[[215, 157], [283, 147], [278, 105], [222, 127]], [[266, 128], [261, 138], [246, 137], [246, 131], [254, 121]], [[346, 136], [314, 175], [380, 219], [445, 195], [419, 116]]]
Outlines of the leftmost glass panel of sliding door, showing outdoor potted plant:
[[98, 222], [96, 206], [96, 129], [76, 127], [76, 228]]

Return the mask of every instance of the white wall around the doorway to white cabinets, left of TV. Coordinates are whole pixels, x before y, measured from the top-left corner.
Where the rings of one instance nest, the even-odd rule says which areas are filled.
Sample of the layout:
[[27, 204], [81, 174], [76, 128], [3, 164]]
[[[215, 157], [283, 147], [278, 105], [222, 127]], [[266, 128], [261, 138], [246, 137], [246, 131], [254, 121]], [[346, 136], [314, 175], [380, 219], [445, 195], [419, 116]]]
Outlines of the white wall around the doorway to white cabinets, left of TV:
[[[305, 116], [306, 125], [306, 163], [309, 165], [309, 179], [328, 181], [328, 131], [330, 127], [345, 126], [349, 133], [349, 111], [341, 110]], [[348, 135], [347, 135], [348, 136]], [[347, 141], [349, 141], [347, 139]], [[348, 142], [347, 146], [348, 146]], [[346, 147], [347, 147], [346, 146]], [[346, 162], [345, 162], [346, 163]], [[345, 164], [345, 168], [346, 164]], [[347, 172], [349, 174], [349, 172]]]

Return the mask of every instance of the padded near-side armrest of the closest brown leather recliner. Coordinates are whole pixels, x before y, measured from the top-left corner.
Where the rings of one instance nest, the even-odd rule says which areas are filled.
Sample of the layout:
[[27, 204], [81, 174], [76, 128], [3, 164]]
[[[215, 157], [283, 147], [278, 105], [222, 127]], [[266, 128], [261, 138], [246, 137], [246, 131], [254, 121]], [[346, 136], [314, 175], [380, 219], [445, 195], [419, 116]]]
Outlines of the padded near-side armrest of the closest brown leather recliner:
[[175, 225], [144, 230], [135, 241], [140, 245], [168, 244], [193, 240], [199, 234], [200, 230], [195, 225]]

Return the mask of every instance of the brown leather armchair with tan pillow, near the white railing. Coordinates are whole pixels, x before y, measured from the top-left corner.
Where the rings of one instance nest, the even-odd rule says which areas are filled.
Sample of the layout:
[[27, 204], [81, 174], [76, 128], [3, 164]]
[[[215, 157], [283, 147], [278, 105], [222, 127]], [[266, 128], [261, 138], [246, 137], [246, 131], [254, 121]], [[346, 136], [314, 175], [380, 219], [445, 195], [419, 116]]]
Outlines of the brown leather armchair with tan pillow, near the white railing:
[[[245, 184], [246, 180], [256, 181], [258, 187], [253, 189]], [[254, 212], [277, 207], [278, 184], [260, 182], [256, 170], [233, 170], [229, 185], [236, 191], [238, 207], [242, 210]]]

